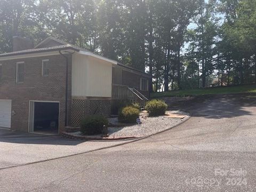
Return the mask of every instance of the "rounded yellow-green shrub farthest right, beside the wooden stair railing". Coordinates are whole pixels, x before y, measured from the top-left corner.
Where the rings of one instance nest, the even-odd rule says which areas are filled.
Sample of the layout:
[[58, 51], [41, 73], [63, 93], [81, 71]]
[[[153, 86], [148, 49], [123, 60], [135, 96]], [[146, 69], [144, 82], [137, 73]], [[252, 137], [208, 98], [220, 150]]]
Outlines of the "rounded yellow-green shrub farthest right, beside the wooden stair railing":
[[162, 100], [151, 100], [147, 102], [146, 110], [149, 113], [149, 116], [159, 116], [164, 115], [167, 110], [167, 105]]

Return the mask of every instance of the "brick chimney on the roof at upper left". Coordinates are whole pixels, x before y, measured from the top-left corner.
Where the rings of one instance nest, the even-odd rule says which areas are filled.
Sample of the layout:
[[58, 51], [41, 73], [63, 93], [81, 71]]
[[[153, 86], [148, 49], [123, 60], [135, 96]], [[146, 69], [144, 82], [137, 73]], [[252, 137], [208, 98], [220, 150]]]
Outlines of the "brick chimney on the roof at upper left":
[[33, 49], [34, 43], [31, 39], [26, 37], [14, 36], [12, 38], [12, 51], [22, 51]]

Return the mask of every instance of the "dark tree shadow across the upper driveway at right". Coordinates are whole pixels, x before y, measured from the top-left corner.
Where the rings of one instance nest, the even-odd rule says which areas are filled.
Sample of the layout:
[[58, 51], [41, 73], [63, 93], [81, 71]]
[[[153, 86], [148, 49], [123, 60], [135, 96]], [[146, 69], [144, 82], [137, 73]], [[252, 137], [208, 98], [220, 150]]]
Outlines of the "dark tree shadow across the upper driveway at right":
[[253, 115], [250, 107], [256, 107], [256, 93], [202, 95], [170, 105], [171, 109], [190, 111], [192, 117], [213, 119]]

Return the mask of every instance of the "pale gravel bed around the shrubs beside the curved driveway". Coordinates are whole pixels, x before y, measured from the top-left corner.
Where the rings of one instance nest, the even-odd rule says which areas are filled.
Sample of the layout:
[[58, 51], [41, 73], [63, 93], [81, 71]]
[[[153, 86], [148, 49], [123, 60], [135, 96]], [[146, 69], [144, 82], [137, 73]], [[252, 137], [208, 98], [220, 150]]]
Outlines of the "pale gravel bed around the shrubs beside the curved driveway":
[[[182, 111], [167, 111], [168, 114], [186, 114]], [[187, 117], [181, 118], [169, 118], [164, 116], [159, 117], [144, 117], [141, 116], [141, 125], [131, 125], [124, 127], [108, 127], [109, 137], [133, 137], [133, 136], [146, 136], [154, 133], [158, 133], [175, 126]]]

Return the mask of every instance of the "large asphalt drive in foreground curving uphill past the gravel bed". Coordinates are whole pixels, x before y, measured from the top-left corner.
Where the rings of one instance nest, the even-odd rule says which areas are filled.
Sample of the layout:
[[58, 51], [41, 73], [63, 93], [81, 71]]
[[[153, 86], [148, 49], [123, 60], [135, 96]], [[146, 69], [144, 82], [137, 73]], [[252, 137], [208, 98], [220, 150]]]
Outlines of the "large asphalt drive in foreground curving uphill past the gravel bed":
[[256, 191], [256, 95], [183, 106], [193, 117], [153, 137], [0, 170], [0, 191]]

